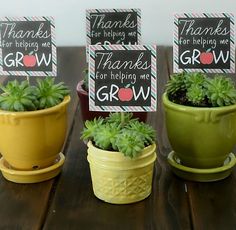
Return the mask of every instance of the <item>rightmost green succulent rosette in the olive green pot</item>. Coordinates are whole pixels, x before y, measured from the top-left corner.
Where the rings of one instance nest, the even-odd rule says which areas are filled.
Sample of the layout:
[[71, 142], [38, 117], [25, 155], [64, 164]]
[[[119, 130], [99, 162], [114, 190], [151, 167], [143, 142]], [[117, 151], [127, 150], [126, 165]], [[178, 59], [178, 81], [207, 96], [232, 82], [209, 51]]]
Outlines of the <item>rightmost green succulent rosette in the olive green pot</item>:
[[233, 81], [224, 76], [216, 76], [206, 83], [207, 97], [213, 106], [225, 106], [236, 103], [236, 89]]

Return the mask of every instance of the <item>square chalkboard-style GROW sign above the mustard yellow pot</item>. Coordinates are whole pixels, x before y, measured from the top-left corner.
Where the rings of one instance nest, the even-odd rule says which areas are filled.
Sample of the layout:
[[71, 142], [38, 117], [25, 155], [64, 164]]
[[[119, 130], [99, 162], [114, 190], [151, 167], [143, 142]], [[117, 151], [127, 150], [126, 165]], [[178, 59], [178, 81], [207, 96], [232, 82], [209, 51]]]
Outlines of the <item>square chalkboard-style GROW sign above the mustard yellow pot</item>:
[[56, 76], [54, 20], [0, 19], [0, 75]]

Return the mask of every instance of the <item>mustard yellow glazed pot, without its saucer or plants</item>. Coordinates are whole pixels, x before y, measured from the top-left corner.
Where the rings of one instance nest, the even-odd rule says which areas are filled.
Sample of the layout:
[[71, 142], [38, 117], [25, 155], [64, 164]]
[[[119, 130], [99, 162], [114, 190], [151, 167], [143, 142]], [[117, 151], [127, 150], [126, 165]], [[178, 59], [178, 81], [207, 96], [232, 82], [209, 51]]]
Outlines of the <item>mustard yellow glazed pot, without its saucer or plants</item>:
[[54, 107], [29, 112], [0, 111], [0, 152], [16, 170], [55, 163], [66, 135], [70, 97]]

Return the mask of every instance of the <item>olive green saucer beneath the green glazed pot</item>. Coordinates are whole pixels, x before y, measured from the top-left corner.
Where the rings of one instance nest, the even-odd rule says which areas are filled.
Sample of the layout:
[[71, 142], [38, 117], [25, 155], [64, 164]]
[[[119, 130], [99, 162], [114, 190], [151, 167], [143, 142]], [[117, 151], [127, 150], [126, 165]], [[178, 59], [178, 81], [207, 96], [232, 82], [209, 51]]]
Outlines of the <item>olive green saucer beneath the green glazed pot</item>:
[[229, 154], [223, 166], [210, 169], [186, 167], [181, 164], [174, 151], [169, 153], [167, 160], [177, 176], [186, 180], [199, 182], [218, 181], [228, 177], [236, 163], [236, 157], [233, 153]]

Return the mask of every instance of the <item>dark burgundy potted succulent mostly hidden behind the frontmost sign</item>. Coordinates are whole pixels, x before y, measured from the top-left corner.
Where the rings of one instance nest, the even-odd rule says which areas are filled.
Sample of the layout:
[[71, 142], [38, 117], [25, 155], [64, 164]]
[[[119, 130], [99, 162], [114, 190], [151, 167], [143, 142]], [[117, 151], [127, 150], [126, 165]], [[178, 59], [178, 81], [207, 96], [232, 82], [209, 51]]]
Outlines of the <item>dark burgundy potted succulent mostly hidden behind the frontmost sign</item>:
[[[82, 119], [85, 122], [86, 120], [93, 120], [95, 117], [107, 117], [109, 112], [95, 112], [89, 111], [89, 97], [88, 97], [88, 69], [83, 71], [84, 78], [79, 81], [77, 84], [77, 95], [80, 101], [80, 109]], [[140, 121], [145, 122], [147, 120], [146, 112], [134, 112], [134, 117], [137, 117]]]

